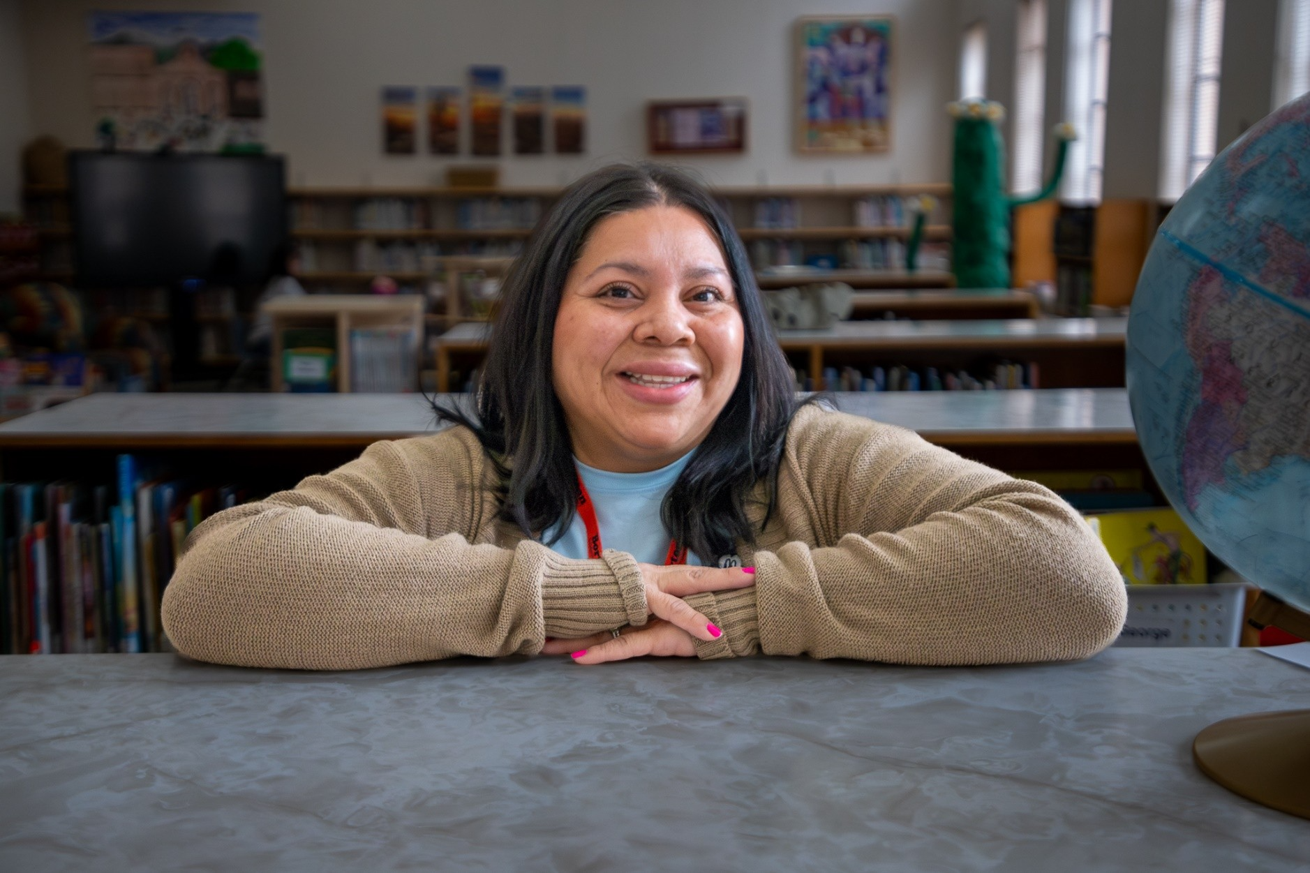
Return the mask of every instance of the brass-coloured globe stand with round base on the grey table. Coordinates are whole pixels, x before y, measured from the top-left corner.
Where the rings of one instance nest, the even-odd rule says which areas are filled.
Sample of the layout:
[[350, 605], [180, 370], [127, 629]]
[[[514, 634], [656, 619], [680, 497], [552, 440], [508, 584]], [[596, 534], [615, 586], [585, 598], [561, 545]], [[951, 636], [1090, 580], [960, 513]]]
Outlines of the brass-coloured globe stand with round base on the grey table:
[[[1310, 638], [1310, 612], [1260, 592], [1250, 623]], [[1192, 742], [1203, 773], [1235, 794], [1310, 818], [1310, 709], [1262, 712], [1217, 721]]]

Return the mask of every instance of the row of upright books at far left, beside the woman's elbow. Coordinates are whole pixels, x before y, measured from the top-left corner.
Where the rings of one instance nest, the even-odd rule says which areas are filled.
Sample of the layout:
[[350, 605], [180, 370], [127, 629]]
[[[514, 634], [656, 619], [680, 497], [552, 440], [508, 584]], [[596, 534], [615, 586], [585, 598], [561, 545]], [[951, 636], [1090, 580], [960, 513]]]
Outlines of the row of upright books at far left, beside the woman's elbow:
[[245, 495], [117, 459], [117, 482], [0, 484], [0, 651], [166, 651], [160, 600], [186, 536]]

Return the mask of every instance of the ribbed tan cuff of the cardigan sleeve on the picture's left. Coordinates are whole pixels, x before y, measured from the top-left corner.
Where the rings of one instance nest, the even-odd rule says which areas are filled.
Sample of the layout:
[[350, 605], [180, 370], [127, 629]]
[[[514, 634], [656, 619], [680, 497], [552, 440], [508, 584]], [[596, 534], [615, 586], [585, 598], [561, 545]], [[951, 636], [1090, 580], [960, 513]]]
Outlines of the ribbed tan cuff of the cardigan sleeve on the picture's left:
[[626, 598], [610, 566], [608, 561], [566, 558], [555, 552], [545, 556], [541, 612], [548, 637], [575, 640], [627, 624]]

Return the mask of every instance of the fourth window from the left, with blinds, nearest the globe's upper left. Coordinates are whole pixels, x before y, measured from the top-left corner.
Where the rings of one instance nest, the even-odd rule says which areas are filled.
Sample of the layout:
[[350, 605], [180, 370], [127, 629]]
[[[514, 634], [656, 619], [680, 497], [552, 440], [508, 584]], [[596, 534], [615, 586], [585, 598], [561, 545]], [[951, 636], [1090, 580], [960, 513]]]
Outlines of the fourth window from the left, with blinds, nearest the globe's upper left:
[[1172, 0], [1159, 197], [1174, 202], [1214, 159], [1224, 0]]

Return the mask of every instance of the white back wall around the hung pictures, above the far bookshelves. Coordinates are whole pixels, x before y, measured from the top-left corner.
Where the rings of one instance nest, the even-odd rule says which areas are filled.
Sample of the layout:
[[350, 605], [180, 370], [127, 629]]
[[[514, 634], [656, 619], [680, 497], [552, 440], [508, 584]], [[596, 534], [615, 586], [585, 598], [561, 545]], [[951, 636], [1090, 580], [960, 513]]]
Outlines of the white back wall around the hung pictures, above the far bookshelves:
[[[587, 88], [588, 153], [506, 156], [502, 184], [557, 185], [645, 155], [648, 98], [745, 96], [744, 156], [686, 157], [714, 184], [945, 181], [958, 37], [954, 0], [25, 0], [34, 132], [93, 143], [86, 71], [92, 9], [261, 14], [267, 142], [293, 185], [440, 182], [449, 163], [381, 153], [383, 85], [464, 85], [503, 64], [510, 85]], [[897, 20], [892, 151], [812, 157], [793, 149], [793, 22], [804, 14]], [[485, 160], [485, 159], [483, 159]]]

